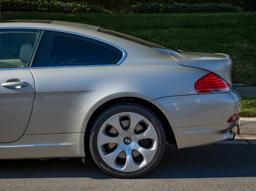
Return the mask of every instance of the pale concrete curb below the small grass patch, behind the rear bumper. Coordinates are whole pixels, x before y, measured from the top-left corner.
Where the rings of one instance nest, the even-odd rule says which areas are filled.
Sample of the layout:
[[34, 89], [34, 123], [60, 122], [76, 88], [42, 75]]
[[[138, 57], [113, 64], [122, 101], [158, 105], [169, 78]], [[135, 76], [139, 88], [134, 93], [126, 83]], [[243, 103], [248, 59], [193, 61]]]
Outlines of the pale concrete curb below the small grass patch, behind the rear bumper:
[[256, 117], [240, 117], [235, 131], [237, 134], [256, 134]]

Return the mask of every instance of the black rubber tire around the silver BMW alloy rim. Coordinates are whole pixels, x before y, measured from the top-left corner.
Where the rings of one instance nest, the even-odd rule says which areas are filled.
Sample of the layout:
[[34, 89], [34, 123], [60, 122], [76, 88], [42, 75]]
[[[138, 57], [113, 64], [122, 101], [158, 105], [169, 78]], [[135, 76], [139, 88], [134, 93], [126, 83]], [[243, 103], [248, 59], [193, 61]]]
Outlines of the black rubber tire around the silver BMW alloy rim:
[[[133, 112], [133, 113], [142, 115], [143, 117], [145, 117], [147, 120], [150, 121], [150, 123], [154, 126], [155, 131], [157, 132], [158, 146], [157, 146], [157, 151], [154, 158], [151, 160], [151, 162], [149, 162], [148, 165], [134, 172], [122, 172], [109, 167], [104, 162], [104, 160], [102, 160], [102, 157], [100, 156], [98, 147], [97, 147], [97, 137], [102, 125], [111, 116], [118, 113], [122, 113], [122, 112]], [[99, 115], [97, 120], [93, 123], [91, 133], [90, 133], [90, 152], [92, 154], [94, 161], [103, 171], [109, 174], [112, 174], [115, 177], [123, 177], [123, 178], [138, 177], [148, 173], [160, 162], [161, 158], [163, 157], [163, 152], [165, 150], [165, 143], [166, 143], [166, 137], [165, 137], [163, 125], [161, 124], [158, 117], [148, 108], [145, 108], [141, 105], [130, 104], [130, 103], [117, 104], [103, 111]]]

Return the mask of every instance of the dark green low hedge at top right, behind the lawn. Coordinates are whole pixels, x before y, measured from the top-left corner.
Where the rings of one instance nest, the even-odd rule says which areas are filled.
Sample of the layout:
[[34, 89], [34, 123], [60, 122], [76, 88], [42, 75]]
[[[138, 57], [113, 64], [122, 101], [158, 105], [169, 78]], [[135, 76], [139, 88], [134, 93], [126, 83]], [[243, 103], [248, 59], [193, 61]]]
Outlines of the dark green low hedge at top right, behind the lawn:
[[137, 3], [132, 6], [133, 13], [218, 13], [218, 12], [241, 12], [243, 9], [231, 6], [227, 3], [209, 4], [158, 4]]

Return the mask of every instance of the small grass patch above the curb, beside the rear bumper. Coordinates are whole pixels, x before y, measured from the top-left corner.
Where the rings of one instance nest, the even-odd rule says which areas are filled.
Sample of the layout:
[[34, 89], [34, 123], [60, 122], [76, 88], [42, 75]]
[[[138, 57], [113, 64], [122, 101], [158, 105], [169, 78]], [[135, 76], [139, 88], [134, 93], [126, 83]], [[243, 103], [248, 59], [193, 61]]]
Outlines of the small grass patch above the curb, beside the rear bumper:
[[243, 97], [241, 117], [256, 117], [256, 97]]

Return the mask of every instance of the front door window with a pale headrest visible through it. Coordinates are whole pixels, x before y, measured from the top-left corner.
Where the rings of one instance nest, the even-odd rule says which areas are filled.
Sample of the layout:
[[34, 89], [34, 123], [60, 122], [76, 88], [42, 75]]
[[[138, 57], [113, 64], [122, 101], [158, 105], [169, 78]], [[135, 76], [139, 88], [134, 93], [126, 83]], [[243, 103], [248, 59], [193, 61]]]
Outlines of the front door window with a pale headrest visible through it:
[[28, 67], [40, 31], [0, 30], [0, 68]]

